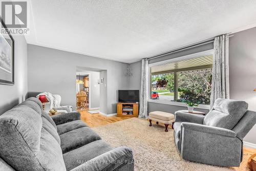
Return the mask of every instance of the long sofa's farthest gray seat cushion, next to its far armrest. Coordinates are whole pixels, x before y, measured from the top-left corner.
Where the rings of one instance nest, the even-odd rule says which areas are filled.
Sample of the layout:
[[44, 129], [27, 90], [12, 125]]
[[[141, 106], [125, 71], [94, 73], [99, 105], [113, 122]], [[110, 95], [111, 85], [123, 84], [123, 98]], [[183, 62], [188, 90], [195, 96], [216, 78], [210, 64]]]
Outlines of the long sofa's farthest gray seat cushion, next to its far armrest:
[[74, 120], [67, 123], [62, 123], [57, 125], [57, 132], [59, 135], [67, 133], [69, 131], [79, 129], [80, 127], [88, 126], [86, 123], [84, 123], [81, 120]]

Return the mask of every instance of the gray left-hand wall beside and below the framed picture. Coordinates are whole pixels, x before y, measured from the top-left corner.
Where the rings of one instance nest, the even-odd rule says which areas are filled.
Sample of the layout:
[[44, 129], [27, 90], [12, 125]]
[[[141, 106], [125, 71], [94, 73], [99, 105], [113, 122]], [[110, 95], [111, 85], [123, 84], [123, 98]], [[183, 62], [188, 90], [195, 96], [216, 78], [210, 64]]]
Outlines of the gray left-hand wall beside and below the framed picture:
[[25, 100], [28, 92], [27, 42], [14, 38], [14, 86], [0, 84], [0, 115]]

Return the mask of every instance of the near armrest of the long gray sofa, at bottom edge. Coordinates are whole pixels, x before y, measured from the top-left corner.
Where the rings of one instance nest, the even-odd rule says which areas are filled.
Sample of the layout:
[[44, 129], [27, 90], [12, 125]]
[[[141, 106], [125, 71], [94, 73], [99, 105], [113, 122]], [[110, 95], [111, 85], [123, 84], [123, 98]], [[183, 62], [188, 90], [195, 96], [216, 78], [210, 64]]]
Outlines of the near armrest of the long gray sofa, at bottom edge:
[[83, 163], [71, 171], [111, 171], [111, 170], [134, 170], [133, 151], [129, 147], [118, 147], [112, 151], [97, 156]]

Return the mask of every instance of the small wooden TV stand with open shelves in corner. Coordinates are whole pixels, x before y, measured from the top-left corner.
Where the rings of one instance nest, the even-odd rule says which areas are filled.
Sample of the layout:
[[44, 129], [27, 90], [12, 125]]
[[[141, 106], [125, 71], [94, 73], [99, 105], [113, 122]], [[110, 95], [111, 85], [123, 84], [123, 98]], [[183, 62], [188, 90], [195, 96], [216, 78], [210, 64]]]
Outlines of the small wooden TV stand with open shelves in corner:
[[139, 115], [139, 103], [122, 103], [122, 102], [117, 103], [117, 116], [138, 117], [138, 115]]

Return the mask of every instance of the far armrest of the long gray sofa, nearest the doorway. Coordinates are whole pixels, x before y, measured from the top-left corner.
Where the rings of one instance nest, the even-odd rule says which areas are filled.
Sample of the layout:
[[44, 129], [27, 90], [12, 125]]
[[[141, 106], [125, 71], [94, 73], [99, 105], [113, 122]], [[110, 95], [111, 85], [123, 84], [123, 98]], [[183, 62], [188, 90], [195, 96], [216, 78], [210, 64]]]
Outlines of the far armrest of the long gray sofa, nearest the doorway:
[[71, 122], [74, 120], [79, 120], [80, 119], [80, 113], [78, 112], [70, 112], [70, 113], [64, 113], [56, 116], [52, 116], [53, 121], [55, 122], [56, 125], [66, 123], [66, 122]]

